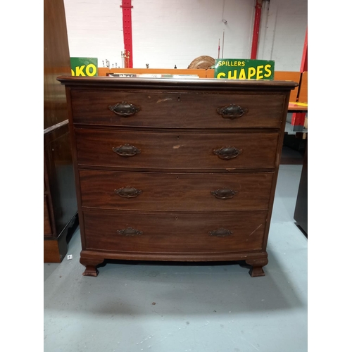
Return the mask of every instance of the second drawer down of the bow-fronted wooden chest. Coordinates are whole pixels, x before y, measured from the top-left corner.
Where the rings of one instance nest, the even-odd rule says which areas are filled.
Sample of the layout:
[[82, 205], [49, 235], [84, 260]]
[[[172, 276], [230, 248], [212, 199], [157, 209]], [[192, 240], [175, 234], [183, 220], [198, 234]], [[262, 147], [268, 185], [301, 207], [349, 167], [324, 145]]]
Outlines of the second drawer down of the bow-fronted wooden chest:
[[[75, 129], [80, 165], [163, 170], [275, 168], [278, 132], [187, 133]], [[139, 153], [123, 156], [132, 144]]]

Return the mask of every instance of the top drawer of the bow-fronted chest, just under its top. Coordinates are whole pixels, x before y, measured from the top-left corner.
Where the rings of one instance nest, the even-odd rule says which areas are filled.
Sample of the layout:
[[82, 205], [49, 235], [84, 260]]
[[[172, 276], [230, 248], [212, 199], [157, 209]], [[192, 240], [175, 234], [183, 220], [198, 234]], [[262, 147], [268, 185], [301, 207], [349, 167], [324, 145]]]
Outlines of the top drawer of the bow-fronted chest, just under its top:
[[71, 90], [74, 123], [124, 127], [279, 128], [284, 97], [270, 92]]

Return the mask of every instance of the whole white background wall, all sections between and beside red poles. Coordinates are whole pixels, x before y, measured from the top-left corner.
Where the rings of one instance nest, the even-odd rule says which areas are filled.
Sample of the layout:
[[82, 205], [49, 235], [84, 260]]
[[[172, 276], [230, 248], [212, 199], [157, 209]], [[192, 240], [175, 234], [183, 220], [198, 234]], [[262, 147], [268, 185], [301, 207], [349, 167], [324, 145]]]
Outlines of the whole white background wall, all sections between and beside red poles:
[[[121, 67], [121, 0], [64, 0], [70, 56]], [[132, 0], [134, 68], [187, 68], [198, 56], [250, 58], [256, 0]], [[299, 70], [307, 0], [263, 1], [257, 58]], [[227, 23], [224, 23], [226, 20]], [[225, 31], [225, 32], [224, 32]], [[222, 38], [224, 46], [222, 47]]]

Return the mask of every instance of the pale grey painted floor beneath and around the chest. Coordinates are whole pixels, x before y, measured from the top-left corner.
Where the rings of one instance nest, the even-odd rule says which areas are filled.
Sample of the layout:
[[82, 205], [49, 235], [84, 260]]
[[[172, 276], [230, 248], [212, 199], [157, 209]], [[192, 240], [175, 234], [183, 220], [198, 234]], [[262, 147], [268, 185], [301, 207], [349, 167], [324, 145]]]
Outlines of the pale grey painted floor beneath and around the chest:
[[265, 277], [237, 263], [106, 263], [84, 277], [80, 232], [44, 264], [44, 352], [305, 352], [307, 238], [294, 221], [302, 165], [281, 165]]

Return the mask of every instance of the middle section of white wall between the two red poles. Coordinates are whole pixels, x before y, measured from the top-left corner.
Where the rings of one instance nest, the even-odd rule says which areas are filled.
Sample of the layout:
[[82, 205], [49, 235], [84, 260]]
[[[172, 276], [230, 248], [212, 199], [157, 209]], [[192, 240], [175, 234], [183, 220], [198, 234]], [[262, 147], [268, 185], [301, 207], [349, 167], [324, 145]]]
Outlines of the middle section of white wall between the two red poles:
[[[224, 30], [224, 57], [244, 58], [250, 54], [251, 1], [149, 0], [134, 4], [135, 67], [149, 63], [153, 68], [173, 68], [175, 64], [187, 68], [198, 56], [218, 58], [219, 39], [221, 57]], [[227, 25], [222, 22], [222, 12]]]

